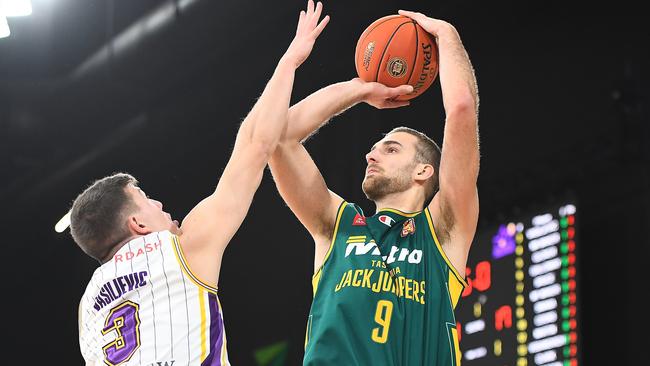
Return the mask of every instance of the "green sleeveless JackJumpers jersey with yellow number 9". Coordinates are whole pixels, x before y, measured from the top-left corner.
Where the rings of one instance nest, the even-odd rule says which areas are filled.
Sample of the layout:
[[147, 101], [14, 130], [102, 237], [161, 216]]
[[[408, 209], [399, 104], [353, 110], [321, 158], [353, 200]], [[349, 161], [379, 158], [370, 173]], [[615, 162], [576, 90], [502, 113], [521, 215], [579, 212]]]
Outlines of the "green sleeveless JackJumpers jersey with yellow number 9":
[[454, 308], [466, 285], [428, 209], [364, 217], [343, 202], [313, 278], [303, 364], [458, 366]]

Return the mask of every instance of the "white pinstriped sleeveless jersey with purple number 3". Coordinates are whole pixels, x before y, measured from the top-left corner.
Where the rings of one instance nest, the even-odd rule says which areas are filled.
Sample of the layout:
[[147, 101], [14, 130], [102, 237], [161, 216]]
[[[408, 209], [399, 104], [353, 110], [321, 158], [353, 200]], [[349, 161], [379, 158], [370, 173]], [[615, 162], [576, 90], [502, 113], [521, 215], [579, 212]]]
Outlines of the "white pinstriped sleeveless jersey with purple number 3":
[[87, 365], [230, 365], [217, 289], [192, 274], [169, 231], [129, 241], [95, 270], [79, 343]]

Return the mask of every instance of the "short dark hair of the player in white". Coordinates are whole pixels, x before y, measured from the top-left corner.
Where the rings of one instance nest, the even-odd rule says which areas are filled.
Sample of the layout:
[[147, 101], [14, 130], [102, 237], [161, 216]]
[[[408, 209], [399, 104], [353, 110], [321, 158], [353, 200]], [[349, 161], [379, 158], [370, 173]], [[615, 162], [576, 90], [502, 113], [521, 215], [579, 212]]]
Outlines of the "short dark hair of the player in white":
[[72, 238], [99, 262], [130, 236], [126, 217], [136, 210], [136, 205], [126, 191], [129, 183], [136, 185], [138, 181], [125, 173], [104, 177], [86, 188], [72, 204]]

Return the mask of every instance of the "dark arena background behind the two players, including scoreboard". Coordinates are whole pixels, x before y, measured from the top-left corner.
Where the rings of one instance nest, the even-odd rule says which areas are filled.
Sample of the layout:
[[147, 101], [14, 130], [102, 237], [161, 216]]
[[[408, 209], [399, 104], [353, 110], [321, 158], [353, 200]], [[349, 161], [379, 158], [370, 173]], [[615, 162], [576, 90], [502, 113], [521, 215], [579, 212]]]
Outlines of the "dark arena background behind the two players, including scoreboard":
[[[77, 307], [97, 263], [55, 224], [91, 181], [117, 171], [182, 219], [215, 186], [304, 3], [32, 0], [30, 16], [6, 18], [6, 361], [83, 363]], [[456, 310], [463, 364], [650, 364], [646, 13], [623, 2], [472, 0], [324, 9], [331, 22], [296, 74], [293, 102], [355, 77], [358, 36], [398, 9], [454, 24], [476, 70], [481, 210], [472, 286]], [[441, 142], [443, 119], [436, 80], [409, 107], [348, 110], [306, 146], [333, 191], [374, 212], [360, 188], [365, 153], [398, 125]], [[233, 365], [301, 363], [313, 252], [267, 170], [221, 269]]]

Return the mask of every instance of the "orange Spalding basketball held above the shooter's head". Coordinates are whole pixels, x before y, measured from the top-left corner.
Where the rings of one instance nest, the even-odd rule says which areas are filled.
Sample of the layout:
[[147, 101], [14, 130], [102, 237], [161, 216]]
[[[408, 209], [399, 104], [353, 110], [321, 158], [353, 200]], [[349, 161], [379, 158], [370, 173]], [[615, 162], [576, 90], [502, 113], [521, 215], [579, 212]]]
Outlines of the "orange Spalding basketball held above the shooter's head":
[[374, 21], [361, 34], [355, 50], [357, 74], [362, 80], [389, 87], [409, 84], [424, 93], [438, 76], [438, 48], [432, 35], [411, 18], [389, 15]]

